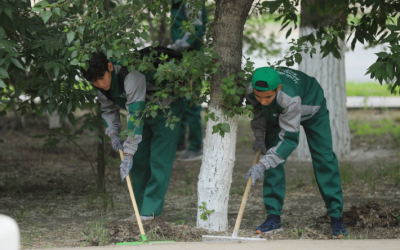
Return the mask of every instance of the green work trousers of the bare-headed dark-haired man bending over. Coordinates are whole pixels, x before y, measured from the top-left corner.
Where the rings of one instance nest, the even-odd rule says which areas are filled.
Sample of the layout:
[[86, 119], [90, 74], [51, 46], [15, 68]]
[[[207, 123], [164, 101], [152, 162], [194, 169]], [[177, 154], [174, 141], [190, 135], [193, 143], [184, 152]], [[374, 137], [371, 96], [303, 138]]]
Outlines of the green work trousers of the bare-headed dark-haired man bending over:
[[[180, 120], [183, 100], [171, 104], [171, 116]], [[167, 117], [159, 112], [156, 118], [144, 120], [142, 141], [133, 156], [130, 172], [133, 192], [142, 216], [159, 216], [164, 207], [179, 136], [179, 123], [171, 130], [165, 126]]]

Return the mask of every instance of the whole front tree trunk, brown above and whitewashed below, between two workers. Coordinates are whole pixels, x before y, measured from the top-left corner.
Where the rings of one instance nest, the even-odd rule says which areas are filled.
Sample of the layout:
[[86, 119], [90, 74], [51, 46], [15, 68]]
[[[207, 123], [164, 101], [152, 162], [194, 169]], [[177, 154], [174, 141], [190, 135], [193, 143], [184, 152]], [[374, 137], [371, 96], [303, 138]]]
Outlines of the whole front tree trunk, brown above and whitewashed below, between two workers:
[[[220, 75], [211, 78], [210, 113], [219, 117], [217, 122], [207, 123], [204, 156], [198, 182], [198, 204], [205, 203], [208, 211], [214, 210], [207, 220], [201, 219], [204, 210], [198, 210], [197, 226], [212, 231], [228, 229], [229, 189], [235, 162], [237, 117], [223, 115], [222, 79], [241, 70], [243, 27], [253, 0], [216, 1], [214, 21], [214, 51], [219, 56]], [[224, 137], [213, 134], [217, 123], [228, 123], [230, 133]]]

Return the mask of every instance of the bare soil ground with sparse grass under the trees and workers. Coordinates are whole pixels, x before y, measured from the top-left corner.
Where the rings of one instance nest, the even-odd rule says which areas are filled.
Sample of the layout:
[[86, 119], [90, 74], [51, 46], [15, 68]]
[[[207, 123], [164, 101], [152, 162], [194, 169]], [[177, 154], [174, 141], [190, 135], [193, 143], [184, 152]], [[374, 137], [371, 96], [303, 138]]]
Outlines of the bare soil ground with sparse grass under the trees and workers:
[[[400, 125], [400, 111], [350, 111], [352, 124], [379, 127], [379, 121]], [[4, 119], [4, 118], [2, 118]], [[386, 121], [386, 120], [384, 120]], [[73, 145], [43, 148], [34, 135], [49, 132], [44, 117], [30, 116], [26, 128], [9, 129], [11, 117], [0, 121], [0, 213], [13, 217], [24, 249], [108, 245], [140, 240], [126, 188], [119, 178], [118, 158], [107, 158], [107, 193], [98, 192], [89, 163]], [[400, 238], [400, 157], [395, 133], [368, 134], [352, 126], [352, 154], [340, 161], [344, 220], [350, 239]], [[244, 192], [245, 175], [254, 157], [249, 122], [240, 120], [236, 163], [229, 201], [230, 235]], [[97, 142], [79, 145], [96, 162]], [[110, 154], [111, 155], [111, 154]], [[197, 229], [197, 179], [201, 162], [175, 161], [161, 218], [144, 223], [150, 240], [200, 241]], [[287, 192], [282, 213], [284, 231], [269, 239], [329, 239], [330, 223], [312, 165], [291, 157], [285, 165]], [[262, 185], [247, 202], [240, 236], [254, 237], [266, 217]], [[215, 234], [215, 233], [212, 233]]]

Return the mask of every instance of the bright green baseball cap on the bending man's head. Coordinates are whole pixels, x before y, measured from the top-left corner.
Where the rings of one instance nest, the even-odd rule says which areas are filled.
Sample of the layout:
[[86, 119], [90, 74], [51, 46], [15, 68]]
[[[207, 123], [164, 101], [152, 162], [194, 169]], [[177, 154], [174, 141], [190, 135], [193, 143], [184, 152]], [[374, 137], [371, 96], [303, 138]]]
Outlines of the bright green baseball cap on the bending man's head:
[[[256, 82], [264, 81], [268, 83], [268, 87], [260, 87], [256, 86]], [[282, 80], [279, 77], [278, 72], [270, 67], [262, 67], [258, 68], [254, 71], [253, 78], [251, 79], [251, 83], [253, 85], [253, 89], [262, 90], [262, 91], [269, 91], [274, 90], [279, 87]]]

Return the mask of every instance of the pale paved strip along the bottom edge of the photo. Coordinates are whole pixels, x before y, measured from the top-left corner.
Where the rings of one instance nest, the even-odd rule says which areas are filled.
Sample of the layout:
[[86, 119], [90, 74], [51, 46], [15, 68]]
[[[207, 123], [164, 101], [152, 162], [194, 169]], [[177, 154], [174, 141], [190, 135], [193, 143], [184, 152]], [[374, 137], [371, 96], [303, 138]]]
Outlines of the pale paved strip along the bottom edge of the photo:
[[[399, 250], [400, 240], [275, 240], [266, 242], [180, 242], [170, 244], [58, 248], [58, 250]], [[56, 249], [57, 250], [57, 249]]]

